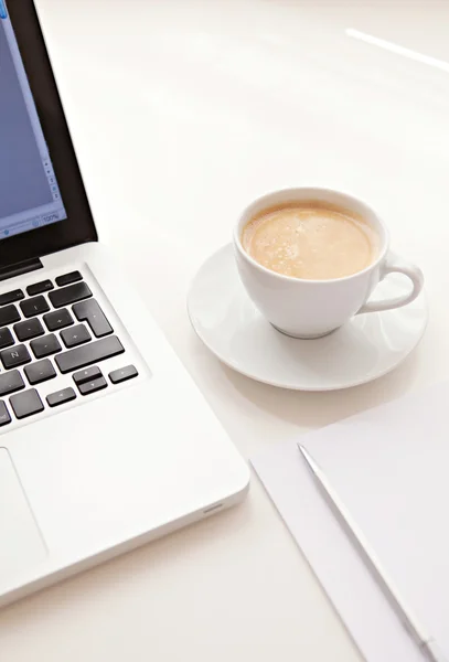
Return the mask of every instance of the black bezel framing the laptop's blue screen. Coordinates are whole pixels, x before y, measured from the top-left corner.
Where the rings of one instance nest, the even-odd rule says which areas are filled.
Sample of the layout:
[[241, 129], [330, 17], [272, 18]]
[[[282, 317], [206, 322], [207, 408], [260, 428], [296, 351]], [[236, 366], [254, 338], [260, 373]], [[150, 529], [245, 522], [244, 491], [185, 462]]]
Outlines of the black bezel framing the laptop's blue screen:
[[7, 1], [67, 218], [0, 239], [0, 268], [98, 238], [34, 2]]

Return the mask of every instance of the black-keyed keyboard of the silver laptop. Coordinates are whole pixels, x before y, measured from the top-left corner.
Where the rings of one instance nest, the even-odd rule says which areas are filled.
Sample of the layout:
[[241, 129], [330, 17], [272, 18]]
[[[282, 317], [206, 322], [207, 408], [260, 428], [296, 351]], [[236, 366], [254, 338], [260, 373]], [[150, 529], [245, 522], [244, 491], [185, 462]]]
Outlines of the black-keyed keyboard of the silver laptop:
[[[136, 377], [126, 362], [106, 376], [95, 365], [124, 352], [79, 271], [0, 295], [0, 427]], [[70, 373], [72, 386], [40, 394]]]

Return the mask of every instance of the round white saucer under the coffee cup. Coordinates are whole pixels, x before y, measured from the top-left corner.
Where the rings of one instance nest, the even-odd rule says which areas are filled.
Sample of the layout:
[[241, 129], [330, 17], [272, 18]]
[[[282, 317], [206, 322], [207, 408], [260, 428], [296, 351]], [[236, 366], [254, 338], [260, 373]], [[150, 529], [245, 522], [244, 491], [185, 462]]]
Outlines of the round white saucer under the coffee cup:
[[[406, 288], [403, 276], [388, 276], [376, 296], [395, 297]], [[421, 293], [404, 308], [356, 316], [325, 338], [288, 338], [247, 296], [231, 245], [197, 271], [188, 310], [197, 335], [223, 363], [258, 382], [298, 391], [348, 388], [385, 375], [416, 348], [428, 320]]]

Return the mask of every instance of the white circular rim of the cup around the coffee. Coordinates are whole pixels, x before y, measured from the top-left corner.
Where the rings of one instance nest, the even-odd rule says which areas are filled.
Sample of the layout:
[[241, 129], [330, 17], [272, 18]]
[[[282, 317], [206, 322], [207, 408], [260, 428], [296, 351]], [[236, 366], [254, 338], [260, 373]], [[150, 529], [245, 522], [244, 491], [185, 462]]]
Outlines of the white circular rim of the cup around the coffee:
[[[373, 263], [371, 263], [371, 265], [368, 265], [361, 271], [355, 271], [355, 274], [350, 274], [349, 276], [341, 276], [340, 278], [323, 278], [323, 279], [313, 279], [313, 278], [309, 279], [309, 278], [297, 278], [296, 276], [287, 276], [285, 274], [279, 274], [278, 271], [272, 271], [271, 269], [268, 269], [267, 267], [264, 267], [264, 265], [260, 265], [258, 261], [256, 261], [248, 253], [246, 253], [245, 248], [242, 245], [240, 225], [242, 225], [243, 220], [245, 218], [245, 222], [248, 220], [248, 218], [246, 218], [246, 216], [249, 215], [249, 210], [257, 203], [266, 201], [267, 206], [268, 206], [269, 200], [271, 197], [282, 194], [282, 193], [284, 194], [291, 193], [292, 194], [291, 202], [295, 203], [295, 194], [300, 191], [310, 191], [310, 192], [317, 191], [317, 192], [321, 192], [321, 193], [336, 193], [338, 195], [344, 195], [344, 196], [349, 197], [350, 200], [352, 199], [353, 201], [365, 206], [375, 216], [377, 223], [381, 225], [383, 233], [384, 233], [383, 247], [379, 250], [377, 258]], [[379, 265], [382, 263], [382, 260], [385, 258], [385, 256], [388, 252], [388, 248], [389, 248], [389, 232], [388, 232], [387, 227], [385, 226], [384, 222], [382, 221], [381, 216], [370, 204], [367, 204], [363, 199], [357, 197], [356, 195], [353, 195], [352, 193], [348, 193], [346, 191], [342, 191], [342, 190], [330, 189], [327, 186], [304, 185], [304, 186], [296, 186], [296, 188], [287, 188], [287, 189], [277, 189], [269, 193], [265, 193], [264, 195], [260, 195], [259, 197], [256, 197], [255, 200], [253, 200], [253, 202], [250, 202], [248, 205], [246, 205], [244, 211], [238, 216], [238, 221], [234, 225], [233, 238], [234, 238], [234, 246], [237, 248], [237, 250], [239, 252], [242, 257], [244, 259], [246, 259], [247, 261], [249, 261], [249, 264], [253, 267], [256, 267], [256, 269], [258, 269], [263, 274], [274, 276], [275, 278], [278, 278], [278, 279], [280, 279], [282, 281], [287, 281], [287, 282], [301, 282], [301, 284], [310, 282], [310, 285], [323, 285], [323, 284], [328, 284], [328, 282], [344, 282], [345, 280], [351, 280], [352, 278], [356, 278], [357, 276], [367, 274], [368, 271], [371, 271], [372, 269], [374, 269], [377, 265]]]

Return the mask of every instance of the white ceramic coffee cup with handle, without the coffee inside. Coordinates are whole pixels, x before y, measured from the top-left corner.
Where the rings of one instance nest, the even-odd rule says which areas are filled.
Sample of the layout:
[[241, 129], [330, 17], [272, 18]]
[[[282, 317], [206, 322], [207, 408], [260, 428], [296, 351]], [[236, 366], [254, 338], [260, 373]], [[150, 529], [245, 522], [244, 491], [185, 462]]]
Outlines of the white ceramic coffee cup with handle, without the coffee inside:
[[[379, 237], [376, 259], [362, 271], [344, 278], [306, 280], [271, 271], [258, 264], [242, 245], [246, 223], [265, 209], [286, 203], [321, 201], [362, 216]], [[389, 252], [389, 234], [379, 216], [364, 202], [330, 189], [286, 189], [259, 197], [242, 213], [234, 229], [238, 273], [249, 297], [278, 331], [293, 338], [320, 338], [342, 327], [355, 314], [400, 308], [423, 289], [421, 270]], [[402, 297], [370, 302], [378, 282], [388, 274], [405, 274], [410, 291]]]

